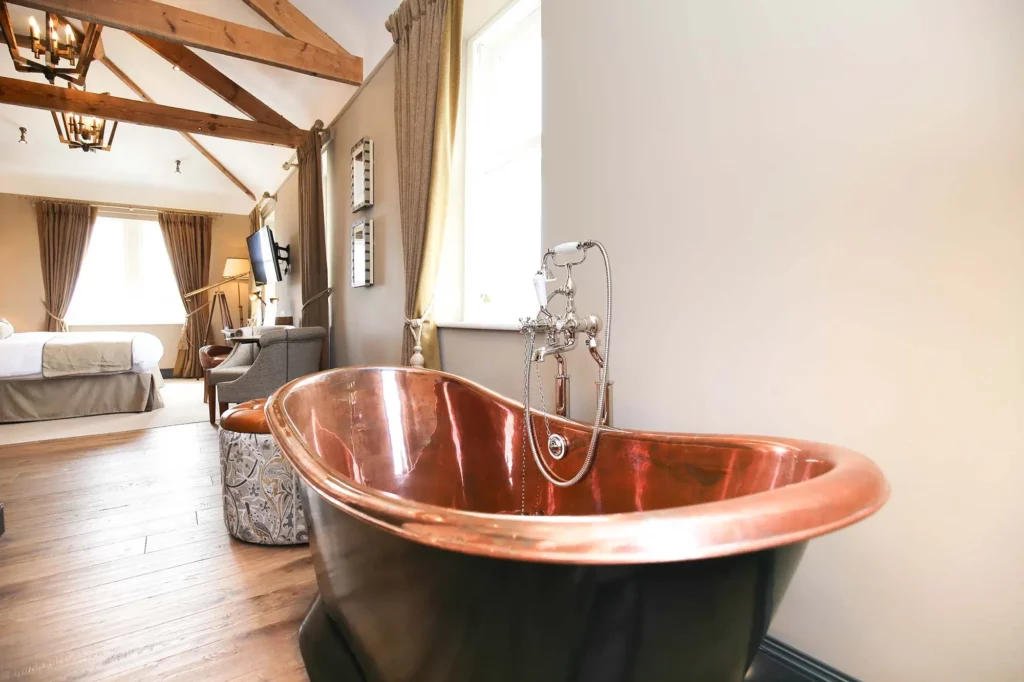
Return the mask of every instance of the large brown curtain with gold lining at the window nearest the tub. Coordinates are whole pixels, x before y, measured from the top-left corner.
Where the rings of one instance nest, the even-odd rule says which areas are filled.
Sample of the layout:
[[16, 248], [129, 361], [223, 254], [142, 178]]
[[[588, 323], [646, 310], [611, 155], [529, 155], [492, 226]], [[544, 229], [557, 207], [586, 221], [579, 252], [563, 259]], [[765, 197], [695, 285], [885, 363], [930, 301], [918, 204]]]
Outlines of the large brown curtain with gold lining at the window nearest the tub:
[[[398, 147], [406, 317], [429, 317], [447, 210], [459, 110], [463, 0], [404, 0], [385, 24], [396, 44], [394, 122]], [[440, 369], [436, 328], [425, 318], [424, 365]], [[413, 354], [402, 334], [402, 360]]]

